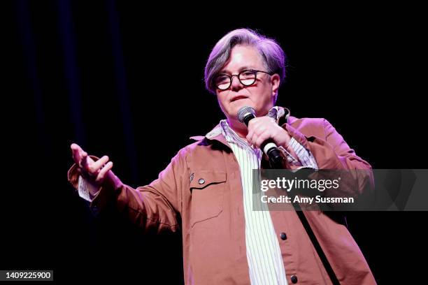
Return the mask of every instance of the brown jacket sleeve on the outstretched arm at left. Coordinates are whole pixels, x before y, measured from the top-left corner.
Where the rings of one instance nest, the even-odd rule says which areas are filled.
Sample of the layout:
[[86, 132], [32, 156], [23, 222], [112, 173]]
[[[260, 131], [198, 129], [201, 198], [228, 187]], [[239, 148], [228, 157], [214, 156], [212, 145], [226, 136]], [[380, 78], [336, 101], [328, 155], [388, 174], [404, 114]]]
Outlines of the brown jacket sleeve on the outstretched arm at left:
[[[159, 173], [157, 180], [143, 187], [134, 189], [112, 175], [110, 180], [105, 180], [90, 208], [101, 213], [113, 207], [143, 231], [178, 231], [181, 190], [190, 183], [184, 154], [182, 149]], [[78, 175], [75, 164], [68, 174], [69, 182], [75, 189], [78, 189]]]

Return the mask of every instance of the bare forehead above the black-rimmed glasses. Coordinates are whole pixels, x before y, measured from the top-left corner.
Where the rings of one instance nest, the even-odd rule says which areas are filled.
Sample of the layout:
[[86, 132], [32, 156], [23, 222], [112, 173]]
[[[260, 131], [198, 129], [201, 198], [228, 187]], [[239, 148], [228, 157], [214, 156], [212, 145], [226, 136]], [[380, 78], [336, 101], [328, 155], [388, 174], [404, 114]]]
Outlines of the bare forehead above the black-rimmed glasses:
[[263, 59], [257, 48], [249, 45], [236, 45], [220, 72], [233, 73], [245, 68], [263, 68]]

